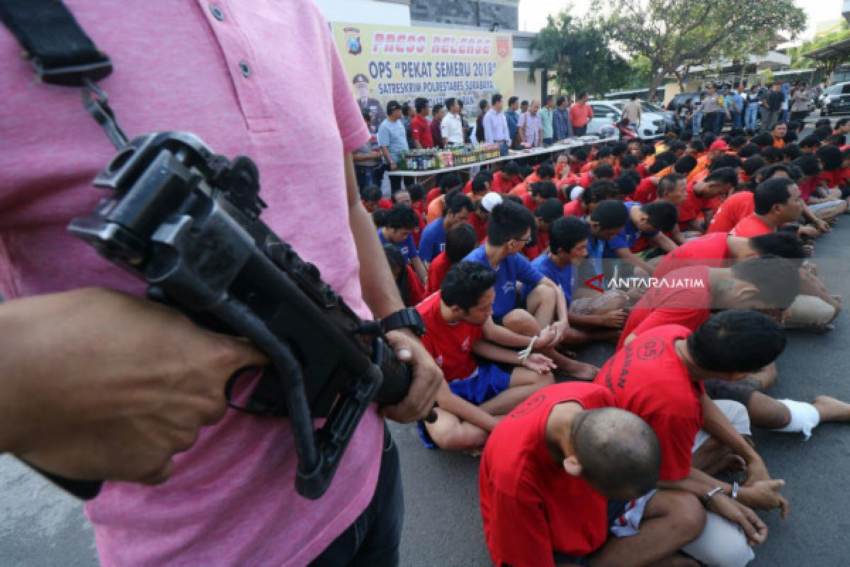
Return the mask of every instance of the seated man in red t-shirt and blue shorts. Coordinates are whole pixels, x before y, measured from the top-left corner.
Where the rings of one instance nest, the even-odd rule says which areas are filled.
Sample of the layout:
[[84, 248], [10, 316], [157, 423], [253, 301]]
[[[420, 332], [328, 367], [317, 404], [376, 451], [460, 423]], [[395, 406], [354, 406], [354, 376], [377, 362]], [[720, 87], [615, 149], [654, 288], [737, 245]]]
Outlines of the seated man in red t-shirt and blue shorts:
[[496, 273], [474, 262], [452, 266], [439, 292], [416, 306], [426, 332], [422, 344], [445, 376], [437, 394], [437, 420], [419, 422], [422, 441], [450, 451], [484, 446], [501, 417], [554, 383], [554, 364], [543, 354], [520, 358], [494, 341]]

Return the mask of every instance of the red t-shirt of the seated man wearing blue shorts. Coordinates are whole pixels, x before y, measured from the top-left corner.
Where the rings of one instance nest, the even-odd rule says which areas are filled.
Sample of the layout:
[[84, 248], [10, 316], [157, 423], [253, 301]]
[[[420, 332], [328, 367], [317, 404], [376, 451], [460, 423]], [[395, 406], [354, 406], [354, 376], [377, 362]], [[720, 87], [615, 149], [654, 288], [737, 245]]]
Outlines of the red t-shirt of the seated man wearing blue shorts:
[[425, 321], [425, 336], [422, 345], [443, 371], [446, 382], [468, 378], [478, 368], [473, 357], [473, 344], [484, 333], [484, 327], [459, 321], [449, 325], [439, 311], [439, 292], [416, 305]]

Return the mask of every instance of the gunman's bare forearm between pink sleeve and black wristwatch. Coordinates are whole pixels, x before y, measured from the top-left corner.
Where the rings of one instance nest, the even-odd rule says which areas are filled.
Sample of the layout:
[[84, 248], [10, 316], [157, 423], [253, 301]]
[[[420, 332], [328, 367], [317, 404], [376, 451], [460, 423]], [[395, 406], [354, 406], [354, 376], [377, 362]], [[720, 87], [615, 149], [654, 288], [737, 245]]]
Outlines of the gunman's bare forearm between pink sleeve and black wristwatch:
[[345, 185], [348, 196], [348, 226], [354, 235], [354, 246], [360, 260], [360, 288], [363, 300], [375, 317], [385, 317], [404, 309], [399, 290], [389, 271], [381, 242], [377, 239], [375, 224], [360, 203], [354, 163], [351, 155], [345, 156]]

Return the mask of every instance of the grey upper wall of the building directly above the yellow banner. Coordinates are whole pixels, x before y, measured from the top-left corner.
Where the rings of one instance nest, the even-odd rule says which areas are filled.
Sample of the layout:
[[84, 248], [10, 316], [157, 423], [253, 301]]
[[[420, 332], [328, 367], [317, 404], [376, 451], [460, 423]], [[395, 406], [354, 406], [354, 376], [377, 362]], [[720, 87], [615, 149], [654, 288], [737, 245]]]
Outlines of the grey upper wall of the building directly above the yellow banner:
[[502, 30], [519, 29], [519, 2], [511, 0], [411, 0], [411, 20]]

